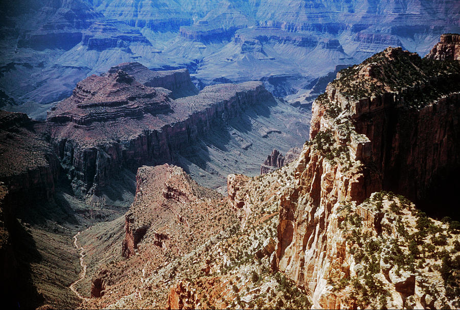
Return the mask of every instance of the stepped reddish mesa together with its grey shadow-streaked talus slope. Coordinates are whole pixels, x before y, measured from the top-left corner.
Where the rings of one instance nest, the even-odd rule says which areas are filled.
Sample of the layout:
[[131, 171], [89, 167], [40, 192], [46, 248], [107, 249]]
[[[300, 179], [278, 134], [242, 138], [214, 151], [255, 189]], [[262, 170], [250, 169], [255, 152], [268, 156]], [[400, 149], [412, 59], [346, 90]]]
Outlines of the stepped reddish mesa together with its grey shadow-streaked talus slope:
[[[174, 76], [186, 79], [186, 88], [191, 84], [186, 71], [158, 74], [140, 64], [123, 64], [78, 83], [73, 95], [49, 113], [45, 129], [51, 133], [54, 148], [78, 195], [99, 195], [108, 180], [117, 178], [123, 168], [135, 170], [143, 164], [165, 162], [179, 162], [189, 171], [205, 170], [205, 174], [196, 174], [202, 174], [207, 183], [216, 183], [219, 170], [228, 169], [229, 173], [238, 168], [238, 160], [234, 159], [230, 165], [209, 166], [209, 162], [238, 157], [227, 147], [238, 149], [239, 154], [248, 153], [244, 157], [247, 162], [256, 150], [244, 145], [266, 149], [280, 140], [281, 145], [286, 145], [305, 139], [308, 126], [304, 121], [309, 115], [275, 100], [261, 82], [209, 86], [196, 95], [174, 100], [171, 91], [141, 84], [121, 68], [140, 77], [146, 85], [157, 78], [168, 80]], [[176, 89], [171, 87], [173, 82], [166, 84]], [[271, 114], [270, 110], [277, 113]], [[297, 133], [288, 134], [290, 128]], [[280, 138], [273, 140], [277, 136]], [[201, 158], [195, 155], [202, 149], [197, 147], [200, 144], [211, 148]], [[221, 184], [214, 186], [222, 185], [225, 176], [220, 176]]]

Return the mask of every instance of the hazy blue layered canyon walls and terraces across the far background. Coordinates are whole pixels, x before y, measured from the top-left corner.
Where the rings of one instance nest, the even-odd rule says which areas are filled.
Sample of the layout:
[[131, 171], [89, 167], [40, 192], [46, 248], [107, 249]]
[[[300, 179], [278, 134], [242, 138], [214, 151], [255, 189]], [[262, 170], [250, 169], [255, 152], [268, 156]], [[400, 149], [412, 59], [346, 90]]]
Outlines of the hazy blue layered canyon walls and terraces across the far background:
[[456, 1], [20, 0], [0, 10], [0, 105], [40, 120], [78, 81], [135, 61], [188, 68], [199, 89], [260, 80], [311, 104], [308, 85], [337, 65], [389, 45], [424, 56], [441, 34], [460, 31]]

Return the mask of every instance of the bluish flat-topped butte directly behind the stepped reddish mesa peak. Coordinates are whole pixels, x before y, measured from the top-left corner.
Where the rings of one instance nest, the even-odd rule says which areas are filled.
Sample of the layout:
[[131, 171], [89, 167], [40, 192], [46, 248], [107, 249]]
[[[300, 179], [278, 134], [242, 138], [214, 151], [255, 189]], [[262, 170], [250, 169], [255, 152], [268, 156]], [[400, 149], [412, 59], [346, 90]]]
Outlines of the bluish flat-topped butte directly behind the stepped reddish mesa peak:
[[145, 86], [169, 89], [174, 99], [198, 94], [187, 69], [152, 71], [138, 62], [132, 62], [114, 66], [108, 72], [114, 73], [117, 70], [123, 70]]

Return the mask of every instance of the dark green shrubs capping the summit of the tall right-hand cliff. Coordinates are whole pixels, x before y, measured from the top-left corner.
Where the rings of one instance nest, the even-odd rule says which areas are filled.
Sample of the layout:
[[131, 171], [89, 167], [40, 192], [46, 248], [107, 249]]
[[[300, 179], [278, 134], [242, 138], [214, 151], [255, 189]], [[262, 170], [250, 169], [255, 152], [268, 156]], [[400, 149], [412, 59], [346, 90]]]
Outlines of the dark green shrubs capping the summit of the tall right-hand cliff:
[[[366, 72], [370, 77], [361, 74]], [[369, 98], [389, 88], [409, 107], [420, 108], [443, 94], [460, 90], [460, 63], [420, 58], [400, 49], [385, 50], [339, 72], [333, 85], [348, 97]], [[430, 87], [425, 87], [429, 85]]]

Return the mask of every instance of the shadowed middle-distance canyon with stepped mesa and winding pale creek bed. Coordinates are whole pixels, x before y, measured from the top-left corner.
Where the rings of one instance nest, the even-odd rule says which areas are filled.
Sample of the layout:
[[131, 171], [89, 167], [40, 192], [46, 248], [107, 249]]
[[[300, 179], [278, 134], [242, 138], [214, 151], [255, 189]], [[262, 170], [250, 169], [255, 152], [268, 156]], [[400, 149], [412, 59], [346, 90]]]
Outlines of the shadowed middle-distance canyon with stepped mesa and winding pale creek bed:
[[[137, 168], [175, 163], [225, 192], [227, 174], [256, 175], [264, 152], [302, 144], [309, 119], [259, 81], [198, 91], [187, 69], [152, 71], [140, 63], [122, 63], [77, 83], [45, 121], [1, 111], [2, 214], [5, 244], [12, 244], [5, 255], [13, 257], [5, 258], [11, 269], [5, 278], [19, 279], [12, 302], [76, 307], [89, 299], [78, 289], [87, 279], [79, 270], [87, 265], [78, 233], [98, 222], [117, 222], [128, 211], [136, 199]], [[182, 195], [166, 191], [167, 199]], [[140, 238], [132, 234], [125, 256]], [[157, 245], [165, 242], [159, 234]], [[94, 296], [104, 283], [94, 285]]]

